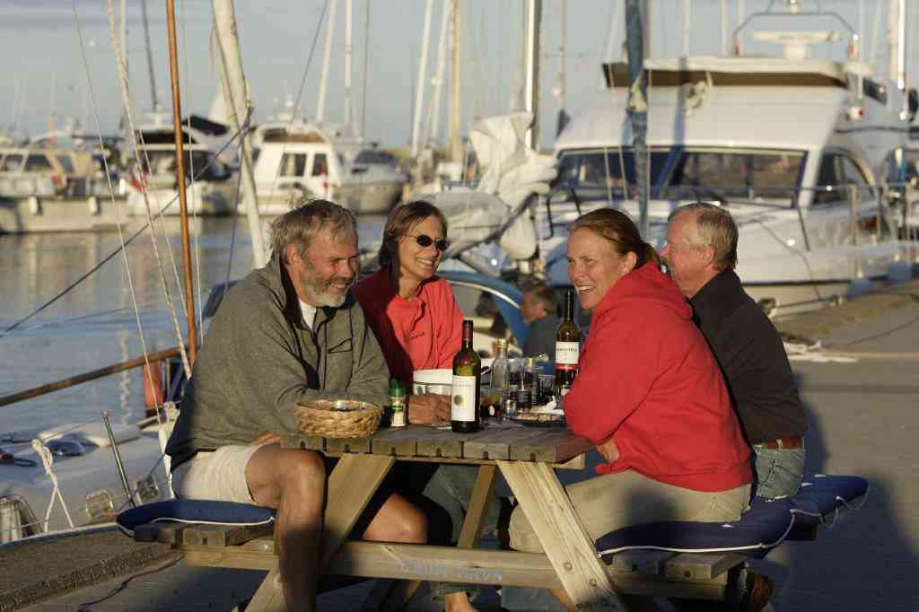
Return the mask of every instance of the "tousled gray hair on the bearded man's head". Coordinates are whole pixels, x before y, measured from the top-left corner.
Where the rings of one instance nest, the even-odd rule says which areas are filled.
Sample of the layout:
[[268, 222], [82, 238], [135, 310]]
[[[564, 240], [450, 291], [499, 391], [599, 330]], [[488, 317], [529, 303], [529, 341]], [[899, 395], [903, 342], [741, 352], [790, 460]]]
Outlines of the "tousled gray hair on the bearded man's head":
[[357, 237], [357, 220], [350, 210], [335, 202], [325, 199], [307, 201], [271, 222], [271, 252], [286, 264], [285, 250], [288, 244], [293, 244], [301, 257], [306, 256], [313, 237], [323, 230], [335, 236]]

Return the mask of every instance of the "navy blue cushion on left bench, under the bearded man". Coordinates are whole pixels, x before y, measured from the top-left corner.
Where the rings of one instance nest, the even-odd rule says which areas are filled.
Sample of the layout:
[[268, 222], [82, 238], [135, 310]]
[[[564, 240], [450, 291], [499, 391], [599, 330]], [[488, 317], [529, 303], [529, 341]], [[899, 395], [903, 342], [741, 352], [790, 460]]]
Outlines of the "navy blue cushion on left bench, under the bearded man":
[[157, 521], [252, 527], [269, 525], [274, 520], [275, 511], [261, 505], [194, 499], [173, 499], [139, 505], [125, 510], [115, 519], [119, 528], [129, 536], [134, 535], [134, 527]]

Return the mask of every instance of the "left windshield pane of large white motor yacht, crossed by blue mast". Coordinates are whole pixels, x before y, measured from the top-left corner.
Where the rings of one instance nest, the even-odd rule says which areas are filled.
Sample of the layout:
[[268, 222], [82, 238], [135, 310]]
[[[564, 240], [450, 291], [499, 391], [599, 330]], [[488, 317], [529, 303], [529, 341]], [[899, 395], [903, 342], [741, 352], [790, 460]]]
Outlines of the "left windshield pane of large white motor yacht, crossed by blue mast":
[[[667, 157], [666, 149], [652, 149], [650, 182], [656, 185]], [[630, 148], [590, 149], [563, 151], [559, 157], [559, 177], [556, 187], [596, 189], [607, 197], [607, 191], [614, 198], [633, 198], [635, 192], [635, 159]]]

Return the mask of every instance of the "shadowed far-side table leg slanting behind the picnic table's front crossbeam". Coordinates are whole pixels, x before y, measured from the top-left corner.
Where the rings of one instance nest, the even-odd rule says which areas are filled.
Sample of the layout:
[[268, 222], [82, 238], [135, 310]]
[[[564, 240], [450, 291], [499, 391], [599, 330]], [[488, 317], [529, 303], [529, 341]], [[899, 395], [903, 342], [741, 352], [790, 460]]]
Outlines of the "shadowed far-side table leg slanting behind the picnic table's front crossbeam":
[[[479, 466], [479, 474], [466, 508], [466, 518], [459, 532], [458, 549], [472, 549], [482, 538], [482, 522], [494, 494], [494, 465]], [[401, 610], [418, 590], [420, 580], [379, 580], [364, 602], [365, 610]]]

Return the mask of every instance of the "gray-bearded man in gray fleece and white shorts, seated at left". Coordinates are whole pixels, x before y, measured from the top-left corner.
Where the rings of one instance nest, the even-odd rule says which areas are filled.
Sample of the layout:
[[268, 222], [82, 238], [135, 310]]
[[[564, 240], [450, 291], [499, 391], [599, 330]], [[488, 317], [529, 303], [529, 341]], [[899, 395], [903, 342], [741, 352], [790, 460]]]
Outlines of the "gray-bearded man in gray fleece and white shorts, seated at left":
[[[280, 448], [280, 435], [299, 432], [299, 402], [384, 405], [389, 370], [350, 291], [354, 216], [312, 201], [272, 223], [271, 245], [267, 266], [234, 285], [214, 315], [166, 453], [179, 497], [277, 508], [287, 606], [314, 610], [326, 464], [312, 451]], [[370, 511], [364, 539], [427, 538], [424, 514], [396, 493]]]

